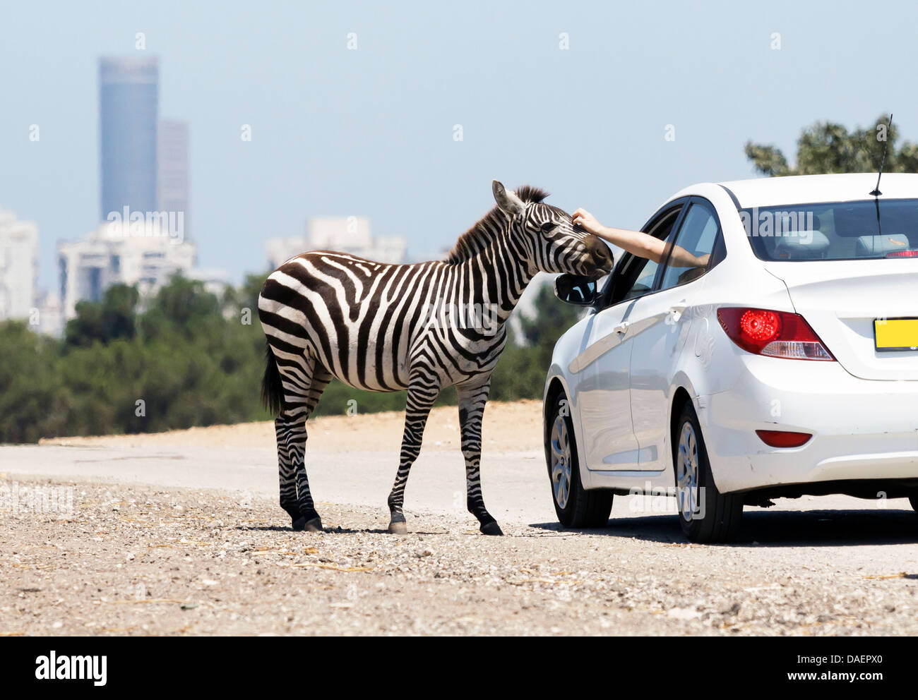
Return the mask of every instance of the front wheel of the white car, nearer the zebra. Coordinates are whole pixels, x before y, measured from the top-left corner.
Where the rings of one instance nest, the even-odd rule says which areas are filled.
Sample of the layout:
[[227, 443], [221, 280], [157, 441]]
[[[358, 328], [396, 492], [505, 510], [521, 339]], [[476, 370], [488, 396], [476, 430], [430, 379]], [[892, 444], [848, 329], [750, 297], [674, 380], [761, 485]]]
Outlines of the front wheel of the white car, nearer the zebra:
[[554, 400], [549, 430], [548, 477], [552, 484], [554, 512], [565, 528], [601, 528], [609, 522], [612, 492], [587, 490], [580, 482], [577, 444], [565, 394]]

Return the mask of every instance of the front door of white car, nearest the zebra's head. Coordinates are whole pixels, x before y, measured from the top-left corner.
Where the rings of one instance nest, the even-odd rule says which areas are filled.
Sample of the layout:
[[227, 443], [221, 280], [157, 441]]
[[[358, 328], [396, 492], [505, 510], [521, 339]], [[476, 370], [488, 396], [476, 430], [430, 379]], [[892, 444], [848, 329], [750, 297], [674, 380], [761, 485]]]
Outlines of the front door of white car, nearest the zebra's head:
[[[683, 202], [667, 206], [644, 230], [668, 239]], [[631, 417], [631, 333], [629, 314], [636, 299], [650, 293], [658, 274], [654, 261], [624, 256], [603, 290], [600, 309], [588, 319], [585, 349], [571, 364], [580, 374], [577, 406], [583, 428], [584, 459], [595, 471], [631, 471], [640, 457]]]

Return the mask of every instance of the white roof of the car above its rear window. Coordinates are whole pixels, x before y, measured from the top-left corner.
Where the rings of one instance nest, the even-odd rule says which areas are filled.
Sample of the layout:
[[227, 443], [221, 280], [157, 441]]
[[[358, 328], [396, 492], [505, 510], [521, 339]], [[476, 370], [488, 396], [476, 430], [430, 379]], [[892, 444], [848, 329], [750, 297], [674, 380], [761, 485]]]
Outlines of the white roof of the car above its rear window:
[[[719, 184], [733, 193], [742, 208], [851, 202], [872, 199], [870, 193], [877, 186], [877, 173], [758, 177]], [[879, 189], [883, 199], [918, 198], [918, 173], [885, 173]]]

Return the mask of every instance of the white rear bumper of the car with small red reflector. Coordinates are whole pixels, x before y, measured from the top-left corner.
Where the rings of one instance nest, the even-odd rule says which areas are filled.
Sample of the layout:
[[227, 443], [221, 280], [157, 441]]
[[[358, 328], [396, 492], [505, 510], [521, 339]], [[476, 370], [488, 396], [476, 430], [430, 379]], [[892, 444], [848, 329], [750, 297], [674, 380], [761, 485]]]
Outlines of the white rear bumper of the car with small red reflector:
[[[745, 356], [729, 391], [700, 396], [722, 493], [780, 484], [918, 478], [918, 382], [869, 381], [837, 362]], [[812, 433], [767, 446], [756, 429]]]

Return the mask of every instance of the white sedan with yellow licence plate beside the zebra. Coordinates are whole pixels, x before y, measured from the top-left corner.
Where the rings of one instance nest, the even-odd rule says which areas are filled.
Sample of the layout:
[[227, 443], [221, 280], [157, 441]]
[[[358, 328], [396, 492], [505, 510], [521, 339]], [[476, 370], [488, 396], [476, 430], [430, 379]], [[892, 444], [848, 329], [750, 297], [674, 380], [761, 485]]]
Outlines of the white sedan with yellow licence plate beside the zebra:
[[605, 525], [612, 494], [676, 495], [695, 541], [773, 497], [918, 509], [918, 174], [877, 177], [696, 184], [642, 229], [665, 261], [557, 278], [590, 309], [545, 382], [565, 527]]

